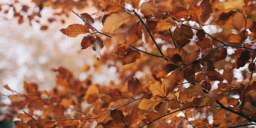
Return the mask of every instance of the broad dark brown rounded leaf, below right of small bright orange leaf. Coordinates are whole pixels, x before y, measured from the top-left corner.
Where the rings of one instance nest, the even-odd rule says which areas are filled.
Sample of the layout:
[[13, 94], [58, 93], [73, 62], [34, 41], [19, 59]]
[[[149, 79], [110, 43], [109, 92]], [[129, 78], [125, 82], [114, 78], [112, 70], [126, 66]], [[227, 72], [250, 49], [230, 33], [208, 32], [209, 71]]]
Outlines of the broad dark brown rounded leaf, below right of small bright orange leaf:
[[185, 46], [190, 42], [188, 38], [193, 38], [193, 31], [188, 27], [177, 27], [173, 33], [174, 40], [180, 47]]

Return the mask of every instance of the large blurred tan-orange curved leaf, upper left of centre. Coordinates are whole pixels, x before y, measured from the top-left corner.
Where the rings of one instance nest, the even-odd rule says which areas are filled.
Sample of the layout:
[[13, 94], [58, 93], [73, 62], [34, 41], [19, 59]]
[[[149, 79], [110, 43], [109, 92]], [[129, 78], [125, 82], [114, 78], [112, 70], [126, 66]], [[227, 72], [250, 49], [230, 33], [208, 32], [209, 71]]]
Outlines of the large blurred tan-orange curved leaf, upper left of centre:
[[105, 22], [103, 23], [102, 31], [113, 34], [114, 30], [117, 27], [120, 27], [127, 22], [133, 22], [136, 19], [137, 17], [135, 15], [130, 15], [125, 12], [111, 14], [106, 18]]

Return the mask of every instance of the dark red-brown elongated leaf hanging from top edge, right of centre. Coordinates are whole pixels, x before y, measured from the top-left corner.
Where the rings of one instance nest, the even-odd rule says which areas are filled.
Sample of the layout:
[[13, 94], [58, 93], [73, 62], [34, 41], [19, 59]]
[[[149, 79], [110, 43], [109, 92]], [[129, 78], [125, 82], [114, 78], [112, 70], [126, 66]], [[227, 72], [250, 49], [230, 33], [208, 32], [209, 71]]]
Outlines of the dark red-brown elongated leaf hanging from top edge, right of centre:
[[206, 22], [207, 19], [210, 17], [210, 14], [212, 13], [212, 5], [210, 3], [210, 0], [203, 0], [200, 3], [200, 7], [202, 8], [202, 14], [200, 16], [200, 21]]

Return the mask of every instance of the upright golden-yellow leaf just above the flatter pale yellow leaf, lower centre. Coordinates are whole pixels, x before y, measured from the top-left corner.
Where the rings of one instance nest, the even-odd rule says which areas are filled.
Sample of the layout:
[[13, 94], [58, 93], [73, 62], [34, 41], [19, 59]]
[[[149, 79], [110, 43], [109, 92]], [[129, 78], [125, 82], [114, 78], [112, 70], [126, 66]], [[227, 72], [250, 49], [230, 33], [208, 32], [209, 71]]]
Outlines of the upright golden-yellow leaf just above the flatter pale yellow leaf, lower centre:
[[153, 93], [153, 95], [166, 97], [165, 85], [161, 84], [161, 82], [155, 82], [154, 84], [150, 84], [150, 90]]

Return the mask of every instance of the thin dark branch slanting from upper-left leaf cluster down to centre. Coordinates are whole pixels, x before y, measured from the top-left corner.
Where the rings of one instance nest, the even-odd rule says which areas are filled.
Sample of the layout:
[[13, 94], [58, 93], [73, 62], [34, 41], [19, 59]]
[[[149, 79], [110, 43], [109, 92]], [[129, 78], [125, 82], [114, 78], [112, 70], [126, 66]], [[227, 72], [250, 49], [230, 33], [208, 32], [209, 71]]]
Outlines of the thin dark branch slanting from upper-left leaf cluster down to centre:
[[[76, 14], [74, 11], [72, 11], [74, 14]], [[90, 23], [88, 23], [86, 20], [84, 20], [81, 16], [79, 16], [78, 14], [76, 14], [76, 16], [78, 16], [80, 19], [82, 19], [85, 23], [87, 23], [88, 25], [90, 25]], [[93, 27], [92, 25], [90, 25], [91, 27]], [[104, 34], [104, 33], [101, 33], [100, 31], [98, 31], [95, 27], [93, 27], [93, 29], [96, 31], [95, 33], [100, 33], [100, 34], [102, 34], [102, 35], [105, 35], [105, 36], [107, 36], [107, 37], [109, 37], [109, 38], [112, 38], [112, 36], [110, 36], [110, 35], [107, 35], [107, 34]], [[126, 43], [125, 43], [126, 44]], [[159, 55], [155, 55], [155, 54], [151, 54], [151, 53], [148, 53], [148, 52], [145, 52], [145, 51], [142, 51], [142, 50], [140, 50], [140, 49], [138, 49], [138, 48], [136, 48], [135, 46], [132, 46], [132, 45], [129, 45], [130, 47], [132, 47], [133, 49], [136, 49], [136, 50], [138, 50], [138, 51], [140, 51], [140, 52], [143, 52], [143, 53], [145, 53], [145, 54], [149, 54], [149, 55], [152, 55], [152, 56], [155, 56], [155, 57], [161, 57], [161, 58], [163, 58], [163, 59], [165, 59], [166, 61], [168, 61], [168, 59], [167, 58], [165, 58], [165, 57], [163, 57], [163, 56], [159, 56]]]

